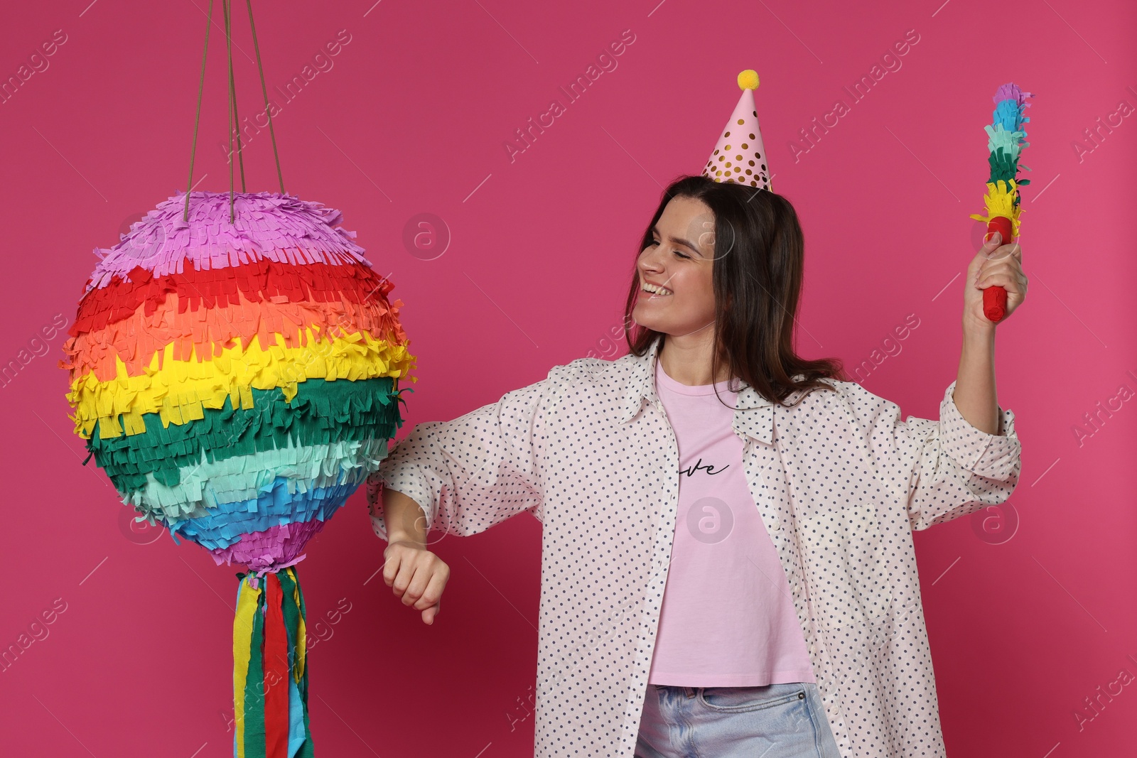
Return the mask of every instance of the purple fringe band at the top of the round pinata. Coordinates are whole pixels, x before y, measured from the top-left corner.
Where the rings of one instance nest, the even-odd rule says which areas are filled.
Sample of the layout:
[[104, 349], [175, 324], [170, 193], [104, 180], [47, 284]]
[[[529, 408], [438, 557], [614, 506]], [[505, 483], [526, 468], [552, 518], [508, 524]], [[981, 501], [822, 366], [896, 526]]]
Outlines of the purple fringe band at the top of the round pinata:
[[111, 277], [130, 281], [135, 266], [153, 276], [183, 273], [192, 260], [199, 270], [240, 266], [267, 258], [275, 263], [362, 264], [364, 249], [356, 233], [338, 225], [343, 214], [319, 202], [279, 192], [235, 192], [234, 220], [229, 220], [229, 192], [191, 192], [190, 220], [182, 220], [185, 193], [158, 203], [121, 235], [100, 258], [86, 290], [107, 286]]

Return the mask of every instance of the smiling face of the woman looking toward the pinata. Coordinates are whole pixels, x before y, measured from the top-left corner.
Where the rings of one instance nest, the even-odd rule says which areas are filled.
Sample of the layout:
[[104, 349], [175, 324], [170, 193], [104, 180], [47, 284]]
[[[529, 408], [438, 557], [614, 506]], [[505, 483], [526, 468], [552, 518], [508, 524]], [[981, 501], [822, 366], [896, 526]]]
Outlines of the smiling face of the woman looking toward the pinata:
[[632, 309], [637, 324], [673, 336], [692, 334], [715, 319], [714, 214], [703, 201], [667, 201], [636, 268], [640, 292]]

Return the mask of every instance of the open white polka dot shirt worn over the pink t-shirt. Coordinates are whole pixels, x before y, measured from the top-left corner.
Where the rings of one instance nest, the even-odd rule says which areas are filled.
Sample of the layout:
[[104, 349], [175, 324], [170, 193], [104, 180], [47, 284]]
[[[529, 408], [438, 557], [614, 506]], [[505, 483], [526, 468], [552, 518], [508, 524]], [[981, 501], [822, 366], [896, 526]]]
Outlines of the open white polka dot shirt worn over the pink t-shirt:
[[[642, 357], [580, 358], [450, 422], [416, 425], [367, 482], [422, 508], [431, 530], [482, 532], [529, 511], [543, 525], [537, 758], [632, 758], [679, 500], [679, 451]], [[943, 757], [912, 531], [1005, 501], [1021, 469], [1014, 413], [969, 424], [947, 386], [939, 419], [855, 382], [775, 406], [750, 386], [732, 428], [789, 582], [844, 758]], [[804, 397], [803, 397], [804, 395]]]

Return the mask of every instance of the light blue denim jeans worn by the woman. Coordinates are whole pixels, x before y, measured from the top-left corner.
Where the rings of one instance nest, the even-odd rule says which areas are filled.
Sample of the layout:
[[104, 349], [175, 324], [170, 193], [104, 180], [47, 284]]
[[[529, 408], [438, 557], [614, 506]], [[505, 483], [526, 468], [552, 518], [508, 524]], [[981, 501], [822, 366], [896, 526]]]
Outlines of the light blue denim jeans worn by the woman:
[[648, 684], [636, 758], [841, 758], [813, 682]]

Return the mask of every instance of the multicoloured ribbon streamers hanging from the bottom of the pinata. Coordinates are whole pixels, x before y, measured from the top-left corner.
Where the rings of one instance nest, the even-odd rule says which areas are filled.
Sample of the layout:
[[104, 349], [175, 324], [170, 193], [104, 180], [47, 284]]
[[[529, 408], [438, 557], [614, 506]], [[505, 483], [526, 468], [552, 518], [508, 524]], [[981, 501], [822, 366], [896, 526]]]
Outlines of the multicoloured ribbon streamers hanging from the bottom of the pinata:
[[307, 631], [296, 568], [238, 574], [234, 758], [312, 758]]

